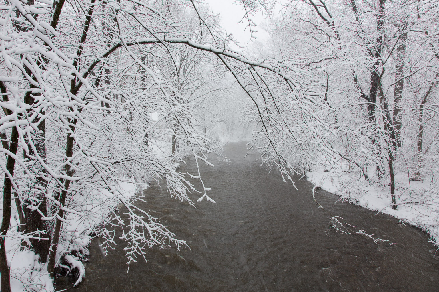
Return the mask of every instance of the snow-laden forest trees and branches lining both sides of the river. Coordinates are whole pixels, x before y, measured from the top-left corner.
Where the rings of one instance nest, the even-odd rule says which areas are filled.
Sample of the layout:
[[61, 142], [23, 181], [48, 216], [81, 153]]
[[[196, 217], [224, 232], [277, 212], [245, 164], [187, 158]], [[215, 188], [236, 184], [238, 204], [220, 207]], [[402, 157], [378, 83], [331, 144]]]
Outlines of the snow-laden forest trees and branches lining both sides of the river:
[[[411, 192], [400, 176], [428, 183], [417, 199], [438, 204], [437, 1], [235, 4], [252, 45], [203, 1], [2, 1], [1, 291], [11, 273], [29, 274], [11, 271], [11, 248], [32, 250], [53, 277], [91, 236], [111, 248], [114, 229], [129, 262], [148, 247], [186, 246], [133, 194], [157, 180], [182, 202], [214, 203], [200, 172], [177, 164], [210, 164], [228, 139], [250, 141], [291, 187], [323, 165], [349, 177], [351, 201], [364, 181], [396, 209]], [[252, 38], [261, 11], [263, 43]]]

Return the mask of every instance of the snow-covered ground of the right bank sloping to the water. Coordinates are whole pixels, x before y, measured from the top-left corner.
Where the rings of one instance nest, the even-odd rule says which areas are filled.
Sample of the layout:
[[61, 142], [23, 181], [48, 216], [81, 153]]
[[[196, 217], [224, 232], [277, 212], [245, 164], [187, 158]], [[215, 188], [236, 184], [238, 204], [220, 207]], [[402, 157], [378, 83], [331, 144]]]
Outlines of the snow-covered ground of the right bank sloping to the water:
[[430, 242], [439, 246], [439, 189], [434, 183], [410, 181], [407, 173], [396, 175], [398, 208], [393, 210], [389, 186], [371, 183], [358, 172], [355, 175], [347, 169], [324, 171], [323, 165], [315, 167], [311, 172], [306, 172], [306, 177], [315, 186], [340, 196], [342, 201], [389, 214], [422, 229], [430, 235]]

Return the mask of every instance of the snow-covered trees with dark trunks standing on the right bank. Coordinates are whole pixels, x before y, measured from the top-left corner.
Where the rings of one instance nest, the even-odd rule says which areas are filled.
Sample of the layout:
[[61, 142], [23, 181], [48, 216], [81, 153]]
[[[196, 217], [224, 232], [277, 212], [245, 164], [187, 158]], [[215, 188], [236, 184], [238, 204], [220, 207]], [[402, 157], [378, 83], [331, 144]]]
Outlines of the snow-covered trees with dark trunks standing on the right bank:
[[366, 179], [389, 185], [396, 208], [395, 171], [416, 169], [412, 179], [421, 179], [423, 114], [436, 124], [436, 109], [426, 109], [425, 103], [437, 82], [437, 38], [431, 33], [438, 23], [437, 5], [297, 0], [283, 12], [273, 26], [271, 52], [320, 82], [332, 110], [324, 121], [338, 137], [331, 141], [338, 164], [347, 159]]

